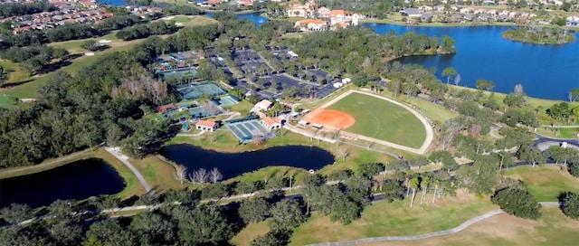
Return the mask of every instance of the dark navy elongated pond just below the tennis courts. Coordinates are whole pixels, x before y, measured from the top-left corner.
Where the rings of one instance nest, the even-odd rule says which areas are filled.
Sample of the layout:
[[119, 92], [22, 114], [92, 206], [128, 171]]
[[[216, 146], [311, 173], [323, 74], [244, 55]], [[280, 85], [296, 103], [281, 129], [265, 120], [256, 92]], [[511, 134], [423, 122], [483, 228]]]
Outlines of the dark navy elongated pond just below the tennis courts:
[[222, 153], [181, 144], [164, 147], [161, 155], [186, 166], [189, 173], [200, 168], [209, 171], [215, 167], [222, 173], [223, 180], [266, 166], [291, 166], [318, 170], [335, 162], [334, 156], [326, 150], [303, 146], [269, 147], [251, 152]]

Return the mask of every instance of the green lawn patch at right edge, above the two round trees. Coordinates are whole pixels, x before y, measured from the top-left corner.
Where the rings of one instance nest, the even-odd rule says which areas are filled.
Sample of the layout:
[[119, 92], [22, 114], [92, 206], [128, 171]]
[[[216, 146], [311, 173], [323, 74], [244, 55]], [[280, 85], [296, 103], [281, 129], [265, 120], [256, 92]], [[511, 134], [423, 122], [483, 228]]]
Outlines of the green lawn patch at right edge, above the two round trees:
[[523, 180], [539, 202], [556, 202], [557, 196], [565, 191], [579, 193], [579, 179], [566, 171], [561, 172], [559, 166], [519, 166], [505, 174]]

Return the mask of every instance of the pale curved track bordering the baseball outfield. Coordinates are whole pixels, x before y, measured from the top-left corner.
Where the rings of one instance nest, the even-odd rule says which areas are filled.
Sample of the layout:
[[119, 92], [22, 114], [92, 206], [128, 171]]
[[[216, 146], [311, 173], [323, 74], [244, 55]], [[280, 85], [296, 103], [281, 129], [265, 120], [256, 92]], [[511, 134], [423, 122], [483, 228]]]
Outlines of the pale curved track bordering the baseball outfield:
[[398, 105], [400, 107], [402, 107], [403, 109], [406, 109], [408, 111], [410, 111], [416, 118], [418, 118], [420, 120], [420, 122], [422, 123], [422, 125], [424, 126], [424, 130], [426, 131], [426, 137], [424, 138], [424, 141], [422, 142], [422, 147], [420, 148], [413, 148], [413, 147], [406, 147], [406, 146], [402, 146], [402, 145], [398, 145], [398, 144], [394, 144], [393, 142], [388, 142], [388, 141], [384, 141], [381, 139], [376, 139], [373, 137], [366, 137], [363, 135], [359, 135], [359, 134], [352, 134], [349, 133], [347, 131], [344, 131], [348, 134], [351, 135], [356, 135], [359, 139], [368, 141], [368, 142], [373, 142], [376, 144], [380, 144], [386, 147], [394, 147], [397, 149], [402, 149], [404, 151], [408, 151], [408, 152], [412, 152], [412, 153], [416, 153], [416, 154], [424, 154], [426, 153], [426, 151], [428, 150], [428, 147], [430, 147], [431, 143], [432, 143], [432, 138], [434, 138], [434, 133], [432, 132], [432, 126], [431, 124], [428, 122], [428, 119], [424, 118], [424, 116], [422, 116], [421, 113], [419, 113], [418, 111], [416, 111], [415, 109], [399, 102], [396, 101], [394, 99], [388, 99], [386, 97], [380, 96], [380, 95], [376, 95], [374, 93], [370, 93], [370, 92], [366, 92], [366, 91], [361, 91], [361, 90], [348, 90], [345, 93], [337, 96], [335, 99], [331, 99], [329, 101], [327, 101], [326, 103], [324, 103], [322, 106], [320, 106], [318, 109], [326, 109], [327, 107], [329, 107], [330, 105], [336, 103], [338, 100], [340, 99], [344, 99], [346, 98], [348, 95], [352, 94], [352, 93], [360, 93], [360, 94], [364, 94], [366, 96], [370, 96], [370, 97], [375, 97], [376, 99], [383, 99], [386, 100], [388, 102], [394, 103], [395, 105]]

